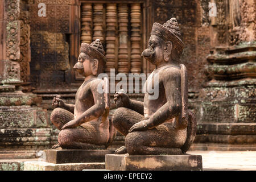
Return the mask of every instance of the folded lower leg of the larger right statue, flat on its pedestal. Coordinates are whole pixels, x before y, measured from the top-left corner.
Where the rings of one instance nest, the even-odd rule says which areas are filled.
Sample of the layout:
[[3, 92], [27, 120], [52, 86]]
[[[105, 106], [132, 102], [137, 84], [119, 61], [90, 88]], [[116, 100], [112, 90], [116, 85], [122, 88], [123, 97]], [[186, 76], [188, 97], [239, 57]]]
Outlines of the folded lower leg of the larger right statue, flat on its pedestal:
[[147, 131], [127, 134], [125, 147], [129, 155], [178, 155], [187, 138], [187, 130], [177, 130], [166, 122]]

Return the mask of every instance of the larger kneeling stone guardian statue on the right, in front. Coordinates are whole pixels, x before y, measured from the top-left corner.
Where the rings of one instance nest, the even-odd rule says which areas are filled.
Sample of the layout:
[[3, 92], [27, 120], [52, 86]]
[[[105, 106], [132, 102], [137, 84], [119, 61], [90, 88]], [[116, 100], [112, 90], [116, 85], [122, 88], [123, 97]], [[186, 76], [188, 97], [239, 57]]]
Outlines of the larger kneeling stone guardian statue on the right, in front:
[[[112, 122], [125, 135], [125, 146], [115, 154], [177, 155], [185, 154], [196, 135], [196, 119], [188, 110], [188, 81], [180, 28], [175, 18], [154, 23], [148, 48], [142, 52], [155, 65], [147, 78], [144, 101], [130, 100], [126, 93], [115, 93]], [[158, 78], [158, 79], [156, 79]], [[158, 98], [151, 98], [147, 86], [158, 81]]]

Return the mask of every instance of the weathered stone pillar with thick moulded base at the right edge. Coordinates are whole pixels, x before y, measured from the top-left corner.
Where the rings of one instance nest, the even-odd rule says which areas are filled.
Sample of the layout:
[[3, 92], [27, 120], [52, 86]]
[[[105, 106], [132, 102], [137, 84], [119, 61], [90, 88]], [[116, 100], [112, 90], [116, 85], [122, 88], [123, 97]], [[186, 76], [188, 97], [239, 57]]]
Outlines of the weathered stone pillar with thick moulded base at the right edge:
[[207, 83], [193, 105], [194, 146], [204, 145], [194, 149], [256, 150], [255, 1], [216, 2], [217, 45], [206, 57]]

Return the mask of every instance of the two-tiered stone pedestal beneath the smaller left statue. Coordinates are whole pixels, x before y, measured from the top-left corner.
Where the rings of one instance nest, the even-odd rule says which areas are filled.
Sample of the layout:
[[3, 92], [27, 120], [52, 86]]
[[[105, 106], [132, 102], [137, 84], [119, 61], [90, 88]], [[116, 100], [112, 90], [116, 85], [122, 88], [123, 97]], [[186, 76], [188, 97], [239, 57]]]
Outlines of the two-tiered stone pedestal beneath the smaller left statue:
[[46, 161], [25, 162], [24, 171], [82, 171], [105, 169], [105, 155], [112, 150], [44, 150]]

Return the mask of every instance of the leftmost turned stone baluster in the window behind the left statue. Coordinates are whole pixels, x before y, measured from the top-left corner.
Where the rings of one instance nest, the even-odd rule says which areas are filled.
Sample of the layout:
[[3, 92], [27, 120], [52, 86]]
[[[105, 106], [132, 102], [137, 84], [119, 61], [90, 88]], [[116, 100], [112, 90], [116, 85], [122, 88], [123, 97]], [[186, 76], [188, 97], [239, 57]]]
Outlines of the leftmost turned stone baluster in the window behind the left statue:
[[81, 5], [81, 43], [92, 42], [92, 4]]

